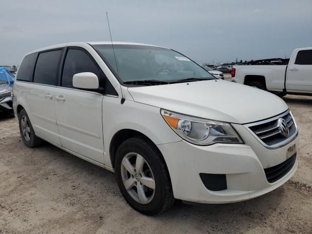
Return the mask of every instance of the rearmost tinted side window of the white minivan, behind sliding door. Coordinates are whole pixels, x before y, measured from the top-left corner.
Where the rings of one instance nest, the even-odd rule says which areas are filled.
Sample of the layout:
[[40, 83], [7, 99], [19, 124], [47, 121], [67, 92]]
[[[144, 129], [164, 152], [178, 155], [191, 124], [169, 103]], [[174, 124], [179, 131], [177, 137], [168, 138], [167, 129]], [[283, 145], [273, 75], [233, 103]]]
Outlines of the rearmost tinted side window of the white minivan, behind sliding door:
[[33, 81], [33, 72], [36, 56], [37, 53], [25, 56], [20, 64], [18, 76], [16, 78], [17, 80]]

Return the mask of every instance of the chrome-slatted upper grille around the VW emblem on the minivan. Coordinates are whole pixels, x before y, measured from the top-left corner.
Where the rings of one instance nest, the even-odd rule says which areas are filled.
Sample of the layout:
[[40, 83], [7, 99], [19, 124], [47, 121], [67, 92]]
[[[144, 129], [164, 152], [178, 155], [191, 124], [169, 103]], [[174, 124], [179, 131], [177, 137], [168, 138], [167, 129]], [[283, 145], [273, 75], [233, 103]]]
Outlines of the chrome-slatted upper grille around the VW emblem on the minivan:
[[[280, 121], [285, 120], [288, 134], [287, 131], [283, 131], [279, 119]], [[296, 137], [298, 133], [297, 126], [289, 110], [279, 116], [246, 124], [245, 126], [267, 148], [281, 147]]]

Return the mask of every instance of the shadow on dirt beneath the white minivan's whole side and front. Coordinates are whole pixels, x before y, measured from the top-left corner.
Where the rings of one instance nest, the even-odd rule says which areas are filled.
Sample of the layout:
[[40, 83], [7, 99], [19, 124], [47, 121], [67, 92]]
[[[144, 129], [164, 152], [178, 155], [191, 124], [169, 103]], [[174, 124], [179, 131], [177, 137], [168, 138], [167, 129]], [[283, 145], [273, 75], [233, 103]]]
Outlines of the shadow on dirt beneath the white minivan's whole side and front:
[[[96, 184], [100, 183], [100, 187], [103, 191], [107, 189], [107, 186], [110, 187], [112, 194], [109, 196], [114, 196], [113, 199], [119, 199], [119, 202], [123, 202], [124, 206], [129, 206], [121, 196], [117, 183], [115, 182], [115, 176], [112, 172], [59, 150], [47, 142], [43, 143], [43, 145], [37, 149], [49, 152], [55, 151], [56, 154], [54, 154], [54, 156], [58, 157], [60, 160], [59, 163], [66, 164], [69, 170], [73, 173], [84, 171], [82, 175], [84, 176], [84, 180], [94, 181]], [[37, 158], [37, 160], [40, 160], [40, 158]], [[83, 186], [83, 184], [80, 184], [80, 186]], [[187, 189], [187, 187], [185, 189]], [[98, 197], [95, 199], [98, 205], [100, 207], [107, 206], [107, 204], [101, 199], [102, 195], [97, 193], [98, 192], [93, 193], [93, 195], [94, 198]], [[280, 187], [271, 193], [252, 200], [230, 204], [190, 205], [177, 200], [170, 210], [160, 215], [153, 217], [143, 216], [145, 216], [144, 219], [152, 218], [154, 221], [162, 224], [168, 223], [169, 221], [171, 223], [176, 223], [176, 225], [179, 226], [182, 222], [185, 226], [184, 229], [186, 233], [187, 230], [190, 229], [196, 229], [198, 232], [205, 233], [209, 233], [208, 230], [216, 233], [246, 232], [257, 226], [263, 227], [269, 225], [266, 223], [266, 219], [279, 210], [279, 206], [286, 196], [284, 193], [284, 188]], [[116, 194], [119, 195], [116, 196]], [[118, 209], [118, 207], [116, 207], [116, 209]], [[140, 213], [133, 211], [131, 208], [129, 210], [131, 215], [137, 216], [138, 218], [142, 217]], [[182, 231], [184, 229], [182, 227]]]

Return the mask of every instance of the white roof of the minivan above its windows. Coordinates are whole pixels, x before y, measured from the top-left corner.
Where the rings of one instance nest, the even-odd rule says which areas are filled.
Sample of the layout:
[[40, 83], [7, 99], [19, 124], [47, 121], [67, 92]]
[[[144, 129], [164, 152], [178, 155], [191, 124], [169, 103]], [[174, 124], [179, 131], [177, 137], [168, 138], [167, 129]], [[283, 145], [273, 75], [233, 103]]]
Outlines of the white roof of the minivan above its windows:
[[[69, 43], [63, 43], [63, 44], [57, 44], [57, 45], [51, 45], [51, 46], [47, 46], [47, 47], [43, 47], [37, 50], [33, 50], [29, 53], [27, 53], [25, 56], [36, 53], [36, 52], [40, 52], [43, 50], [52, 50], [52, 49], [56, 49], [56, 48], [61, 48], [61, 47], [65, 47], [65, 46], [78, 46], [78, 44], [90, 44], [90, 45], [96, 45], [96, 44], [101, 44], [101, 45], [111, 45], [112, 42], [111, 41], [91, 41], [91, 42], [69, 42]], [[114, 45], [146, 45], [146, 46], [156, 46], [156, 47], [161, 47], [161, 46], [157, 46], [157, 45], [149, 45], [149, 44], [143, 44], [143, 43], [136, 43], [136, 42], [125, 42], [125, 41], [113, 41]], [[165, 48], [165, 47], [161, 47], [161, 48]]]

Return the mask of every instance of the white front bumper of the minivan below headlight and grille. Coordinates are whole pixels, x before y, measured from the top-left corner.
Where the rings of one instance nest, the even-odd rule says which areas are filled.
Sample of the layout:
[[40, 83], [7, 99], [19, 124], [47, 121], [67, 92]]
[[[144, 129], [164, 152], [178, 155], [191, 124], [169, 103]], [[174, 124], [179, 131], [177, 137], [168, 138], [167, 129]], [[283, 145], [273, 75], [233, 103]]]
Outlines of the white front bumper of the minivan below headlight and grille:
[[[255, 151], [254, 143], [258, 147]], [[298, 144], [296, 137], [284, 147], [274, 150], [261, 144], [259, 146], [256, 140], [247, 140], [246, 144], [211, 146], [196, 146], [182, 140], [157, 147], [167, 163], [177, 199], [199, 203], [231, 203], [266, 194], [289, 180], [297, 169], [297, 159], [291, 170], [273, 183], [268, 182], [264, 168], [277, 165], [295, 154], [296, 147], [293, 145]], [[290, 147], [292, 152], [289, 151]], [[268, 155], [272, 156], [272, 160], [268, 160]], [[267, 162], [271, 164], [263, 164]], [[227, 189], [208, 190], [200, 178], [201, 173], [225, 174]]]

